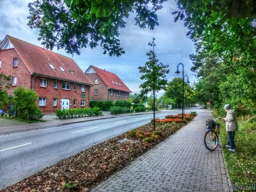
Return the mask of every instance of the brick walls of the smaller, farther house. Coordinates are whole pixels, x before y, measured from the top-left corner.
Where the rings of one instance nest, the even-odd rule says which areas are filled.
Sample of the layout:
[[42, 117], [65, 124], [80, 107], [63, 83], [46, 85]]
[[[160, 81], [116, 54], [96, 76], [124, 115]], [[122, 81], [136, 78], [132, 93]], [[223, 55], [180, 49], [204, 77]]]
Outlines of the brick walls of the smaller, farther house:
[[[97, 73], [87, 73], [86, 74], [89, 79], [92, 81], [93, 84], [95, 84], [95, 79], [99, 79], [99, 84], [95, 84], [94, 86], [91, 87], [90, 89], [90, 100], [111, 100], [115, 102], [116, 100], [129, 100], [129, 93], [128, 96], [125, 97], [125, 92], [121, 91], [121, 97], [118, 96], [118, 91], [117, 91], [117, 96], [115, 96], [115, 91], [113, 90], [113, 95], [111, 95], [111, 90], [108, 90], [108, 86], [103, 82], [103, 80], [98, 76]], [[95, 95], [95, 89], [98, 90], [98, 95]]]

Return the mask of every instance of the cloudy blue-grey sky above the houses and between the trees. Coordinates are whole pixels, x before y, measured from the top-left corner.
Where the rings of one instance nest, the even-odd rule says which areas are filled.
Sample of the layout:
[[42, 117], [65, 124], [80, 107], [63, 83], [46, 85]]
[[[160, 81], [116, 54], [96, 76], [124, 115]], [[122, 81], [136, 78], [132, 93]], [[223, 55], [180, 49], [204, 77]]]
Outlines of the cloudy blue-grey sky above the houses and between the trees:
[[[39, 30], [30, 29], [27, 26], [27, 16], [29, 15], [28, 3], [33, 0], [0, 0], [0, 39], [5, 35], [27, 41], [31, 44], [41, 46], [37, 40]], [[120, 29], [121, 47], [125, 54], [121, 57], [110, 57], [103, 55], [103, 49], [83, 48], [81, 55], [74, 55], [74, 61], [85, 71], [90, 65], [105, 69], [117, 74], [121, 80], [130, 88], [133, 93], [139, 93], [139, 85], [143, 82], [138, 71], [139, 66], [143, 66], [147, 61], [146, 53], [151, 50], [148, 42], [155, 40], [155, 53], [159, 62], [169, 65], [170, 72], [167, 74], [168, 81], [175, 77], [182, 77], [175, 74], [178, 63], [184, 64], [184, 72], [189, 76], [189, 81], [193, 82], [195, 77], [190, 71], [192, 62], [189, 60], [189, 54], [195, 52], [193, 42], [187, 38], [187, 29], [183, 22], [174, 23], [172, 12], [177, 10], [174, 0], [169, 0], [163, 4], [163, 8], [158, 11], [158, 22], [154, 30], [148, 28], [140, 29], [135, 26], [134, 15], [126, 19], [126, 27]], [[54, 52], [71, 57], [65, 50], [54, 49]], [[181, 65], [179, 70], [182, 71]], [[158, 93], [162, 95], [163, 91]]]

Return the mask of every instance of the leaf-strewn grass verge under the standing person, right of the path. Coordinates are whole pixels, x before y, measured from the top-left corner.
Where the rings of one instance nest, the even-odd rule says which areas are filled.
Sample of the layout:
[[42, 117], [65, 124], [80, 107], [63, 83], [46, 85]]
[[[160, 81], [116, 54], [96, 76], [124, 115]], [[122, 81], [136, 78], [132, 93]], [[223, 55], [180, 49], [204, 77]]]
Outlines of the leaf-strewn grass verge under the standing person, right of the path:
[[[212, 115], [215, 119], [219, 117], [215, 110], [213, 110]], [[248, 120], [238, 120], [238, 131], [236, 131], [234, 137], [237, 150], [235, 153], [228, 151], [228, 148], [225, 147], [228, 143], [225, 123], [220, 120], [218, 120], [218, 123], [221, 124], [220, 139], [222, 150], [232, 184], [249, 186], [255, 183], [256, 123], [250, 123]]]

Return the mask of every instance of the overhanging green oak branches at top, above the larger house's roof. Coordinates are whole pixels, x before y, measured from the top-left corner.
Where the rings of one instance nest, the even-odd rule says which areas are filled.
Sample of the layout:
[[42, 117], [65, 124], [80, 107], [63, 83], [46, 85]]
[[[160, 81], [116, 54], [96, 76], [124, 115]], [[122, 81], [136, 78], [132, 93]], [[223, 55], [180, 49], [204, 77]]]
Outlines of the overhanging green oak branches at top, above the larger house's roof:
[[29, 3], [30, 28], [38, 28], [39, 38], [47, 49], [65, 48], [80, 54], [79, 48], [98, 45], [104, 54], [120, 56], [119, 28], [124, 18], [136, 13], [135, 25], [154, 29], [156, 11], [167, 0], [36, 0]]

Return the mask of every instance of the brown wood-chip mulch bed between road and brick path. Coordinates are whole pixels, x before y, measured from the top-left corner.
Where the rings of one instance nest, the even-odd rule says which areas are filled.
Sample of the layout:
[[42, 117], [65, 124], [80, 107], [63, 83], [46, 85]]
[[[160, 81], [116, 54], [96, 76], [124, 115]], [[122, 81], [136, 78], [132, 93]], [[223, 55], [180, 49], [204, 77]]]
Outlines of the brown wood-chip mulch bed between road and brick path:
[[[189, 121], [187, 121], [188, 123]], [[187, 123], [156, 122], [156, 131], [162, 135], [153, 142], [144, 142], [128, 132], [106, 140], [59, 163], [11, 185], [1, 192], [55, 192], [79, 191], [93, 188], [116, 171], [129, 165], [161, 141], [168, 138]], [[153, 123], [148, 123], [136, 130], [144, 133], [153, 132]], [[127, 140], [120, 143], [120, 140]], [[66, 186], [66, 188], [63, 188]]]

